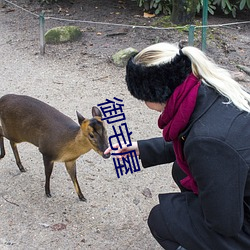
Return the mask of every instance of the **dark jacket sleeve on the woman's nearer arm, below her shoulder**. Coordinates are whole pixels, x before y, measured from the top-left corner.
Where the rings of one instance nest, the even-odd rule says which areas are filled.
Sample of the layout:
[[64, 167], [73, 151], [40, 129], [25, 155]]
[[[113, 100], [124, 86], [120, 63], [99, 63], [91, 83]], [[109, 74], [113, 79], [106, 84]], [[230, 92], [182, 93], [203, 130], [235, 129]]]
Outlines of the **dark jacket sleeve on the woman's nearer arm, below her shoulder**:
[[198, 185], [205, 223], [224, 236], [237, 235], [244, 220], [246, 162], [226, 142], [209, 137], [189, 140], [184, 154]]

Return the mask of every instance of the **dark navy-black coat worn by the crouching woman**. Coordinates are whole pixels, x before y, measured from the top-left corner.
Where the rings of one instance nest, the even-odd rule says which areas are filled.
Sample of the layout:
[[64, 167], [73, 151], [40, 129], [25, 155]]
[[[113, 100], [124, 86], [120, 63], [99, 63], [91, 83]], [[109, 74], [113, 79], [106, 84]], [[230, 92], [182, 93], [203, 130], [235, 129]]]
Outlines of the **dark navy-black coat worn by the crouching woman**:
[[[250, 249], [250, 114], [223, 102], [227, 102], [224, 97], [201, 85], [189, 125], [179, 137], [198, 196], [191, 192], [160, 195], [160, 204], [166, 213], [170, 204], [177, 204], [173, 198], [182, 197], [176, 199], [183, 210], [186, 206], [190, 220], [184, 226], [199, 235], [204, 243], [200, 249]], [[144, 167], [175, 160], [172, 144], [163, 138], [138, 145]], [[176, 230], [173, 233], [178, 235]]]

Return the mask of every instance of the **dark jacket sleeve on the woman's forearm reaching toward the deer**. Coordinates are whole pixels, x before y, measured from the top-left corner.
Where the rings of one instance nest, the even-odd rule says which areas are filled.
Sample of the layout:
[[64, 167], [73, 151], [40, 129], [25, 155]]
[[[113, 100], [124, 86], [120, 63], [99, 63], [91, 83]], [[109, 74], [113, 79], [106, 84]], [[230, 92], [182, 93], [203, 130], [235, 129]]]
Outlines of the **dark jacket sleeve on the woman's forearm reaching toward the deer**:
[[175, 153], [171, 142], [163, 137], [138, 141], [140, 159], [144, 168], [175, 161]]

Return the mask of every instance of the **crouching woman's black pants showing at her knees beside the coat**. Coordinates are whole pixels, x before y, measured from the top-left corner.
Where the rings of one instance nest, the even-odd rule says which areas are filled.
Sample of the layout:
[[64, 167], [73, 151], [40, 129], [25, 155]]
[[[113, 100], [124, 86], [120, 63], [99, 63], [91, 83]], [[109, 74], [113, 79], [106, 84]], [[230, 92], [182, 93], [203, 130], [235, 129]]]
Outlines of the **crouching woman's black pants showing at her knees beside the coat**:
[[[181, 192], [188, 191], [180, 184], [180, 180], [185, 178], [186, 175], [176, 162], [173, 164], [172, 176]], [[148, 226], [154, 238], [164, 249], [176, 250], [180, 246], [180, 244], [175, 241], [174, 235], [171, 235], [166, 223], [164, 222], [164, 218], [160, 211], [160, 205], [156, 205], [151, 210], [148, 217]]]

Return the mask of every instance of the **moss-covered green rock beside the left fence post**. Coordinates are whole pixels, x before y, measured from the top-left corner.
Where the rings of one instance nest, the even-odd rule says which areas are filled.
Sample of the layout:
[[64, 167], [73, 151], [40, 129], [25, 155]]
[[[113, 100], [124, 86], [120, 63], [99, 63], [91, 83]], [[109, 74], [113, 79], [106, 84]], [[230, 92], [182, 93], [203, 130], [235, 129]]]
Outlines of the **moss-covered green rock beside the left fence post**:
[[82, 36], [82, 31], [76, 26], [55, 27], [45, 34], [45, 42], [50, 44], [73, 42]]

